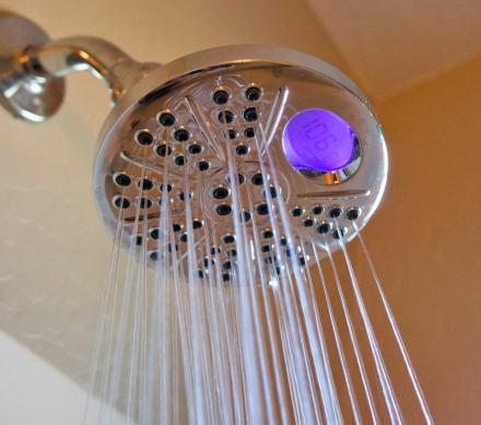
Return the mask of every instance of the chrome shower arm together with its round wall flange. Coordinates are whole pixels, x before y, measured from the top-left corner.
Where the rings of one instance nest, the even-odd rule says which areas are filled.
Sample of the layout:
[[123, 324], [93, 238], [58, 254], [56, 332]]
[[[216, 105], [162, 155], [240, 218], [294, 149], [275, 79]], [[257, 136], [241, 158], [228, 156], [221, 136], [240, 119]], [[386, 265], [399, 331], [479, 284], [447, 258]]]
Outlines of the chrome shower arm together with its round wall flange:
[[14, 117], [40, 122], [60, 108], [64, 76], [89, 71], [116, 104], [139, 80], [159, 68], [140, 63], [95, 37], [50, 40], [32, 21], [0, 10], [0, 104]]

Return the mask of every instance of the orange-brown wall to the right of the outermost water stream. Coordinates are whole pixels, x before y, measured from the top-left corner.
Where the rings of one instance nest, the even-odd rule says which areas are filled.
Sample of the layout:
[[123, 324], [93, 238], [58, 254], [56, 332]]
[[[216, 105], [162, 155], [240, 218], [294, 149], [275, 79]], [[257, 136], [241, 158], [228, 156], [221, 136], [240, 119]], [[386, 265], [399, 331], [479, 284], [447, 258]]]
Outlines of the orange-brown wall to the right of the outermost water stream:
[[481, 420], [481, 57], [378, 107], [386, 198], [365, 231], [438, 424]]

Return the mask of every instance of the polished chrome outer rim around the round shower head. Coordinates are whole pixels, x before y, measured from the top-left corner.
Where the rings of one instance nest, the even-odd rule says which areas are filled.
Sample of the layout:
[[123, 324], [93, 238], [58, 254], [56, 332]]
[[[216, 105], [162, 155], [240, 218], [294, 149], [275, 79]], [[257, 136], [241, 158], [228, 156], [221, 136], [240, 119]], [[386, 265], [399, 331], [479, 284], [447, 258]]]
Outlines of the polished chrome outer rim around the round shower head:
[[[313, 72], [325, 80], [330, 80], [333, 85], [349, 92], [357, 102], [363, 105], [371, 119], [377, 125], [377, 119], [373, 109], [364, 95], [364, 93], [340, 70], [331, 64], [315, 58], [310, 55], [300, 52], [290, 48], [256, 46], [256, 45], [236, 45], [215, 47], [185, 57], [175, 59], [174, 61], [152, 70], [142, 80], [129, 87], [125, 95], [120, 98], [118, 104], [108, 115], [104, 126], [99, 132], [98, 138], [98, 153], [94, 162], [94, 192], [96, 198], [96, 205], [104, 222], [114, 231], [116, 228], [117, 219], [114, 212], [107, 205], [107, 193], [105, 186], [99, 184], [108, 173], [105, 169], [105, 163], [108, 163], [108, 157], [113, 155], [115, 147], [108, 142], [113, 140], [113, 135], [118, 131], [119, 127], [125, 127], [127, 119], [136, 114], [137, 110], [150, 105], [157, 96], [163, 96], [175, 90], [184, 83], [195, 81], [197, 75], [204, 75], [209, 72], [222, 72], [230, 69], [249, 69], [249, 68], [269, 68], [269, 67], [292, 67]], [[171, 88], [172, 87], [172, 88]], [[154, 94], [152, 96], [152, 94]], [[150, 98], [150, 96], [152, 98]], [[114, 138], [116, 140], [116, 138]], [[117, 146], [118, 147], [118, 146]], [[386, 146], [383, 144], [384, 155], [386, 156]], [[377, 209], [377, 205], [383, 198], [387, 172], [387, 163], [384, 164], [383, 180], [384, 184], [375, 199], [375, 206], [372, 211], [364, 215], [367, 219]], [[333, 189], [333, 188], [332, 188]], [[354, 237], [353, 233], [347, 235], [347, 241]]]

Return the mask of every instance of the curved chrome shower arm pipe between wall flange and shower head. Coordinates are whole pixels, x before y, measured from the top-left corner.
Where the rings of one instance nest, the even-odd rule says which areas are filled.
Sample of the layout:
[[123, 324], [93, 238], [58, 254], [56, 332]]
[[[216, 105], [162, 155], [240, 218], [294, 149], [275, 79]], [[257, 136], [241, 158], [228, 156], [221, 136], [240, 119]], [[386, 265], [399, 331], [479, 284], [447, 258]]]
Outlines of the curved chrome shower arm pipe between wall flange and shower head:
[[69, 37], [30, 48], [22, 59], [28, 72], [42, 78], [63, 78], [90, 71], [102, 80], [116, 103], [126, 90], [160, 67], [140, 63], [118, 47], [95, 37]]

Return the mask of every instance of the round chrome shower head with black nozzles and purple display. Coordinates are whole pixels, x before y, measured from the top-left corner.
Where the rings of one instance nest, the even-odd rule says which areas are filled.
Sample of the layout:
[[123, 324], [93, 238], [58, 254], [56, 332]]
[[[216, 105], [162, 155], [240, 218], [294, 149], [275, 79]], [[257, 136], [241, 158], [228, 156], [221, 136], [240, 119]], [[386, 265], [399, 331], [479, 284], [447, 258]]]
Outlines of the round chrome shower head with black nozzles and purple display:
[[[99, 143], [101, 212], [113, 228], [122, 214], [126, 238], [142, 239], [152, 259], [167, 201], [178, 258], [188, 240], [208, 237], [216, 260], [228, 261], [237, 193], [237, 213], [267, 264], [292, 256], [292, 247], [308, 263], [307, 247], [336, 249], [339, 237], [349, 243], [367, 223], [387, 177], [385, 141], [359, 88], [325, 62], [285, 49], [212, 49], [154, 71], [113, 110]], [[204, 270], [206, 247], [196, 249]]]

